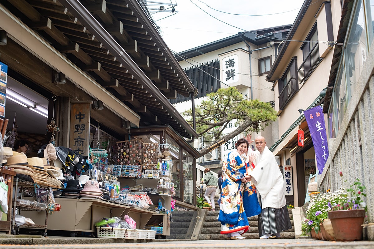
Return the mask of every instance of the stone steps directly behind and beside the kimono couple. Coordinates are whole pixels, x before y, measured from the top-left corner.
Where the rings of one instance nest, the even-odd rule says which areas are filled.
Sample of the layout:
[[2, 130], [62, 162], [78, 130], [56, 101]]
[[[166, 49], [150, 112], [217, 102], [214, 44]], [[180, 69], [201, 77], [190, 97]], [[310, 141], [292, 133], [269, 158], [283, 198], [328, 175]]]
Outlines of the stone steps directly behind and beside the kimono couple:
[[[220, 207], [217, 204], [217, 199], [215, 199], [215, 210], [216, 211], [208, 211], [205, 216], [205, 220], [203, 222], [203, 227], [201, 228], [199, 234], [199, 240], [226, 240], [227, 236], [220, 234], [221, 231], [221, 222], [217, 220]], [[281, 233], [282, 239], [295, 239], [295, 231], [294, 231], [294, 221], [292, 219], [292, 211], [288, 209], [288, 214], [291, 219], [292, 228]], [[249, 226], [251, 227], [250, 232], [246, 232], [243, 236], [246, 239], [258, 239], [258, 218], [256, 216], [252, 216], [248, 218]]]

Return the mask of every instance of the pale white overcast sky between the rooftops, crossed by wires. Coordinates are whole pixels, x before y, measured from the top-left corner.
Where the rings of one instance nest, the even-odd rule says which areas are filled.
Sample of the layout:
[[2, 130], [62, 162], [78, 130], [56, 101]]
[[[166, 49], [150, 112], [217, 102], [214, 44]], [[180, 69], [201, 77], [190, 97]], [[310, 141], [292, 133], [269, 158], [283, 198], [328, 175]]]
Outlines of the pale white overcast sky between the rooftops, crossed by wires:
[[[152, 14], [152, 18], [160, 27], [160, 34], [172, 52], [182, 52], [242, 31], [292, 24], [304, 2], [304, 0], [159, 0], [158, 2], [170, 3], [170, 1], [177, 3], [175, 10], [178, 13], [171, 15], [170, 12], [157, 12]], [[148, 7], [149, 4], [148, 1]], [[168, 7], [171, 9], [171, 6], [166, 4], [164, 7], [166, 10]]]

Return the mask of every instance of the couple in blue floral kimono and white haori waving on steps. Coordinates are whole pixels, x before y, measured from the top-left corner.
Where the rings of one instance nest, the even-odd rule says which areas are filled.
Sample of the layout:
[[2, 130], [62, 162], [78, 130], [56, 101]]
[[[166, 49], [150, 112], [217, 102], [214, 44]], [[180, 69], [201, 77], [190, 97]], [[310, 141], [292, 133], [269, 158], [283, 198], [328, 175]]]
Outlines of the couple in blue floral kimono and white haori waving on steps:
[[[255, 139], [257, 151], [248, 151], [252, 142], [251, 135], [240, 138], [236, 150], [227, 155], [222, 166], [218, 215], [221, 234], [227, 234], [230, 239], [245, 239], [242, 235], [249, 230], [248, 217], [258, 215], [260, 239], [280, 238], [281, 231], [292, 228], [283, 175], [265, 138]], [[257, 192], [261, 196], [260, 202]]]

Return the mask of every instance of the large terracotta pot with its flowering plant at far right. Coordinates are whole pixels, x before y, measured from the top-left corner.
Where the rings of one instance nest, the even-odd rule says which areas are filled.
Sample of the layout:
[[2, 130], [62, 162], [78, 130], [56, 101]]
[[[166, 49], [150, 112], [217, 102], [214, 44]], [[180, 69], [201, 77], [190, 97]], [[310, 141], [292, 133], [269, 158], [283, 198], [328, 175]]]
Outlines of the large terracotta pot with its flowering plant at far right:
[[[340, 172], [340, 176], [343, 173]], [[329, 202], [328, 218], [334, 230], [335, 240], [353, 241], [362, 240], [362, 224], [367, 211], [366, 203], [362, 199], [366, 196], [365, 186], [357, 178], [356, 181], [346, 189], [346, 198]]]

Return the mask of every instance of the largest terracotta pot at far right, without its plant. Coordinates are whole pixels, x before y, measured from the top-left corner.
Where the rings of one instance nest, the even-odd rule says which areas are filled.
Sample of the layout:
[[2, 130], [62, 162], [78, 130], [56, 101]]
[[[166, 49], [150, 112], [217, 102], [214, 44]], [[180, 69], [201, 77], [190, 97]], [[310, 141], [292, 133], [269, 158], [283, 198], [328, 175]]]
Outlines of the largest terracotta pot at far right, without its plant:
[[365, 210], [337, 210], [328, 212], [334, 229], [335, 240], [362, 240], [362, 224], [364, 224]]

